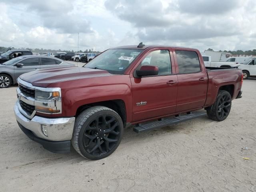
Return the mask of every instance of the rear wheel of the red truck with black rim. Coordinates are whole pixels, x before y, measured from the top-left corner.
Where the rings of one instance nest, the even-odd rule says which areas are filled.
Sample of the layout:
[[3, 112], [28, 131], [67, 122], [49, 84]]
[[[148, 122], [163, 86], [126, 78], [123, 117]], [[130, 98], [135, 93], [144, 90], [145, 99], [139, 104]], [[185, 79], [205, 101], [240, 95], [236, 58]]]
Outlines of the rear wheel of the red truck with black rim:
[[224, 90], [219, 90], [216, 101], [212, 106], [206, 109], [207, 115], [210, 119], [216, 121], [223, 121], [228, 117], [231, 109], [230, 93]]

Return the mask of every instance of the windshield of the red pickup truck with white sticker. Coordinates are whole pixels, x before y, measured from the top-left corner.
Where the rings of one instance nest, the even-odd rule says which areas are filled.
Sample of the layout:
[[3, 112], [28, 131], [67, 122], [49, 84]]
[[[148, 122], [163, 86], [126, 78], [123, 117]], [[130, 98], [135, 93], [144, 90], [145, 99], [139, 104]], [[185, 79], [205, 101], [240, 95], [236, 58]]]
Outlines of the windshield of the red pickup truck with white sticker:
[[84, 67], [107, 70], [112, 74], [123, 74], [141, 52], [140, 49], [109, 49], [85, 64]]

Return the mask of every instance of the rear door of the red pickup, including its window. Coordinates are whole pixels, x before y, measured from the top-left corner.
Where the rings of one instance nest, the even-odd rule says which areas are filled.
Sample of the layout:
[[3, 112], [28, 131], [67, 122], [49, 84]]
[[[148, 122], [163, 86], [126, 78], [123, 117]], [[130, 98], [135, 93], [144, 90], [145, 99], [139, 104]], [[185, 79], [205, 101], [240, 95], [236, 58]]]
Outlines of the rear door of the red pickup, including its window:
[[199, 51], [174, 49], [178, 77], [176, 112], [202, 108], [206, 101], [208, 77]]

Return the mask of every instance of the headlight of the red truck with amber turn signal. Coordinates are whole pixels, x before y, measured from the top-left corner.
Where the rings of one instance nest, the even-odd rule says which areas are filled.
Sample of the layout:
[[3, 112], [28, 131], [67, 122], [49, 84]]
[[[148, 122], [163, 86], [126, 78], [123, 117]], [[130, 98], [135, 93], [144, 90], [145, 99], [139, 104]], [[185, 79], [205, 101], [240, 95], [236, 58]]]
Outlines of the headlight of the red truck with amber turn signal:
[[47, 91], [36, 90], [35, 91], [35, 110], [47, 114], [61, 113], [61, 92], [60, 88], [53, 88], [58, 91], [51, 91], [52, 88]]

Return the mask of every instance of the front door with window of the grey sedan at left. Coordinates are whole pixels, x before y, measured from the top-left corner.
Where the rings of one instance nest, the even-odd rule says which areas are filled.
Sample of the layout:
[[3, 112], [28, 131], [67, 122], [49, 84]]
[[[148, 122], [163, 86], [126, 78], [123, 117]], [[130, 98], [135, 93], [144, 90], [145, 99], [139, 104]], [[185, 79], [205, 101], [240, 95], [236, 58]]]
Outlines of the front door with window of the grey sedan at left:
[[14, 75], [16, 79], [24, 73], [40, 69], [38, 57], [28, 58], [28, 59], [19, 61], [18, 63], [22, 63], [23, 66], [17, 67], [16, 64], [14, 65]]

